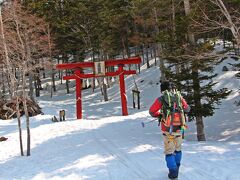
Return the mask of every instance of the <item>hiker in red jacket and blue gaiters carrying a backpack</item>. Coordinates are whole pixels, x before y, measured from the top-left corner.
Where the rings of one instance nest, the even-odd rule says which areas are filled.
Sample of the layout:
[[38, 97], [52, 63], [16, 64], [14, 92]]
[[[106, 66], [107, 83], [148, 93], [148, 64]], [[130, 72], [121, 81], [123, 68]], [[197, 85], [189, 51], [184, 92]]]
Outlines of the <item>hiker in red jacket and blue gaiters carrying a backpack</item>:
[[159, 118], [161, 123], [168, 177], [174, 179], [178, 177], [182, 158], [182, 133], [187, 127], [184, 112], [188, 113], [190, 107], [170, 82], [162, 82], [160, 88], [162, 95], [151, 105], [149, 113], [152, 117]]

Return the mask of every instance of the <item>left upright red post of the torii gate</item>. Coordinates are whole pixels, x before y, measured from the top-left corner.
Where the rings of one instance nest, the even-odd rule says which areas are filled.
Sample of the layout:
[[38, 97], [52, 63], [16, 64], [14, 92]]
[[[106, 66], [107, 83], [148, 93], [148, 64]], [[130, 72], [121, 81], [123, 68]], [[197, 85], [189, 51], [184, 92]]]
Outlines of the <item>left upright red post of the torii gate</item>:
[[[80, 70], [75, 71], [75, 75], [79, 76], [81, 74]], [[82, 83], [80, 78], [76, 78], [76, 111], [77, 119], [82, 119]]]

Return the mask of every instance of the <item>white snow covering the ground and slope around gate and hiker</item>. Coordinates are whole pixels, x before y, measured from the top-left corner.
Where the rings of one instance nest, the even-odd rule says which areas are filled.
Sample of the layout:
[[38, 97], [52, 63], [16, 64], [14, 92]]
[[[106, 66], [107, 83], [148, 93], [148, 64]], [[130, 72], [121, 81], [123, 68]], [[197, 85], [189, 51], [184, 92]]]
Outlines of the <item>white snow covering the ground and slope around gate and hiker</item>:
[[[233, 104], [240, 99], [239, 81], [234, 78], [236, 72], [223, 73], [220, 66], [216, 69], [221, 73], [216, 81], [219, 87], [233, 89], [233, 93], [213, 117], [204, 121], [207, 142], [195, 141], [195, 125], [189, 123], [178, 179], [240, 179], [240, 107]], [[148, 108], [159, 96], [159, 69], [143, 67], [135, 79], [141, 91], [141, 109], [132, 108], [134, 83], [129, 76], [129, 116], [121, 116], [118, 84], [109, 89], [109, 102], [102, 101], [99, 90], [95, 94], [83, 91], [83, 120], [75, 119], [74, 89], [71, 95], [59, 90], [53, 99], [49, 95], [39, 98], [45, 115], [31, 118], [30, 157], [20, 156], [16, 120], [0, 121], [0, 136], [8, 138], [0, 142], [0, 179], [168, 179], [157, 122], [141, 126], [141, 122], [152, 120]], [[51, 117], [58, 116], [61, 109], [66, 109], [67, 120], [51, 122]], [[26, 140], [26, 132], [23, 134]]]

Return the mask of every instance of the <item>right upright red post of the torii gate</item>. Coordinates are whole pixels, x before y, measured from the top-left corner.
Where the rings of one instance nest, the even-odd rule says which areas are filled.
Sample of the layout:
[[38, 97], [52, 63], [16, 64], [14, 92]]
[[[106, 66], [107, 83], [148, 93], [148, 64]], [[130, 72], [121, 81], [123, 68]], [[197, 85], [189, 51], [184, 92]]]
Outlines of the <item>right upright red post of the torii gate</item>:
[[123, 65], [118, 66], [119, 74], [119, 83], [120, 83], [120, 94], [121, 94], [121, 101], [122, 101], [122, 115], [127, 116], [127, 96], [125, 92], [125, 81], [124, 81], [124, 70]]

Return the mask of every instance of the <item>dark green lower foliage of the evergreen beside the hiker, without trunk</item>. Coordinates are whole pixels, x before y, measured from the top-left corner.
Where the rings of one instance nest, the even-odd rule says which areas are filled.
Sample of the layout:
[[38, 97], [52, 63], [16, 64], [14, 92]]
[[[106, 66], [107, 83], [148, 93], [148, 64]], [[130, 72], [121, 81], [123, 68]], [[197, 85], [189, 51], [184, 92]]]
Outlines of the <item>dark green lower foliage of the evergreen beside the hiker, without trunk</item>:
[[[203, 47], [197, 48], [197, 50]], [[196, 51], [196, 49], [195, 49]], [[205, 50], [206, 51], [206, 50]], [[217, 76], [214, 73], [214, 67], [217, 65], [218, 56], [203, 56], [202, 52], [199, 54], [186, 54], [186, 56], [169, 57], [172, 63], [179, 63], [181, 70], [177, 74], [175, 71], [168, 71], [168, 77], [172, 78], [177, 89], [184, 92], [187, 102], [192, 107], [190, 116], [212, 116], [216, 105], [221, 104], [221, 100], [227, 97], [231, 91], [226, 88], [214, 90], [217, 82], [213, 78]], [[196, 57], [199, 57], [196, 59]], [[194, 61], [191, 59], [194, 58]], [[189, 62], [189, 66], [185, 63]], [[169, 68], [170, 69], [170, 68]], [[197, 71], [194, 71], [197, 69]]]

